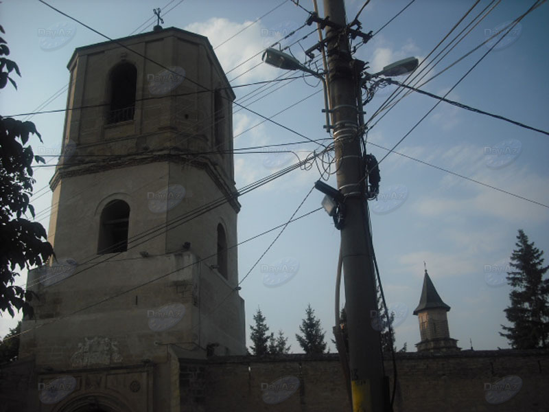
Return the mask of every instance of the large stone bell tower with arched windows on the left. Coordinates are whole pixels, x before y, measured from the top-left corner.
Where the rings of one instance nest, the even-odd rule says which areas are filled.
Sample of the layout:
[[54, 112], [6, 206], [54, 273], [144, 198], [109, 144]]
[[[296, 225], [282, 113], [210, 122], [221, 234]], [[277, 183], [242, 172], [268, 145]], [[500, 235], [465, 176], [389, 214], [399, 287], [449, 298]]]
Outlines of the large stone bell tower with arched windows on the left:
[[30, 410], [179, 410], [178, 359], [246, 353], [235, 95], [208, 39], [174, 27], [80, 47], [68, 69], [57, 259], [27, 281]]

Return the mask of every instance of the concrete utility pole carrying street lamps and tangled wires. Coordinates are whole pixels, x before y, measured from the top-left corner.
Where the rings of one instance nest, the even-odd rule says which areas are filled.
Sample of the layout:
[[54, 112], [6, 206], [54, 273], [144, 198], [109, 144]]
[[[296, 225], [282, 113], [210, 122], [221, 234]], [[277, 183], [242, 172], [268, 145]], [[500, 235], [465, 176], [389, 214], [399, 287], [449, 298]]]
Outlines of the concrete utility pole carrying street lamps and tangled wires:
[[[344, 27], [343, 0], [324, 0], [325, 16]], [[365, 216], [364, 163], [360, 152], [358, 81], [362, 62], [353, 60], [349, 38], [327, 27], [330, 109], [338, 189], [345, 196], [345, 222], [341, 230], [341, 248], [345, 280], [345, 311], [349, 334], [349, 358], [353, 412], [382, 412], [384, 376], [379, 332], [372, 327], [371, 311], [377, 313], [375, 278], [369, 222]], [[360, 182], [360, 183], [359, 183]], [[366, 229], [368, 228], [368, 229]]]

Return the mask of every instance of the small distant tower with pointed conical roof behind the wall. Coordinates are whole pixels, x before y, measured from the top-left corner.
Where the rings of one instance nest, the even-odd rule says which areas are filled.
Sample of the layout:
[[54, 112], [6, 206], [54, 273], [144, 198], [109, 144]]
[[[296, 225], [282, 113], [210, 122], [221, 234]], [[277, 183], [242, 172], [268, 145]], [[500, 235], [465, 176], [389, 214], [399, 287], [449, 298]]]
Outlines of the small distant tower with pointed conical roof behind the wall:
[[419, 333], [421, 342], [416, 343], [418, 352], [448, 352], [460, 350], [456, 339], [450, 338], [447, 312], [450, 307], [445, 304], [425, 269], [423, 277], [423, 290], [419, 305], [414, 314], [419, 319]]

